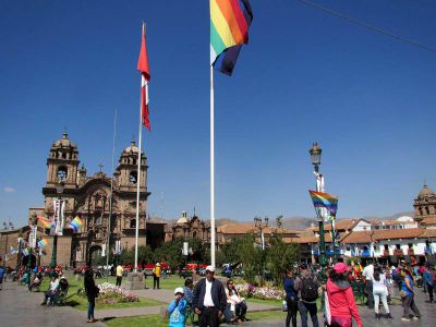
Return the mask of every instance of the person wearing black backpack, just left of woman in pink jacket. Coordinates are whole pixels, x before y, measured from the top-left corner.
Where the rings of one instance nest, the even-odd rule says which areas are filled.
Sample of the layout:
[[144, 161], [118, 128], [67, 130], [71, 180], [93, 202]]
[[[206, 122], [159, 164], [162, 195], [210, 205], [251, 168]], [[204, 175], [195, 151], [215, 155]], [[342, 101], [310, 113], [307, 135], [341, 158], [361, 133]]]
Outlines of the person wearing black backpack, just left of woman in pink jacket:
[[294, 290], [299, 299], [299, 311], [301, 326], [307, 327], [307, 312], [311, 315], [312, 324], [318, 327], [316, 299], [318, 299], [318, 280], [307, 268], [306, 264], [300, 266], [300, 276], [295, 278]]

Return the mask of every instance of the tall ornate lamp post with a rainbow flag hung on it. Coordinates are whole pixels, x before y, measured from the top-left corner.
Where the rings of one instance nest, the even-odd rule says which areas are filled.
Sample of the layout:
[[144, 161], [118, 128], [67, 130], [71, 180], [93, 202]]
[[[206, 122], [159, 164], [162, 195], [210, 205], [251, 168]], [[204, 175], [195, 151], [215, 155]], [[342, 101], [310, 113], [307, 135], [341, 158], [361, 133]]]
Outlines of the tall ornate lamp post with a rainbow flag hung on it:
[[[324, 178], [319, 173], [320, 166], [320, 155], [323, 153], [322, 148], [318, 146], [316, 142], [313, 143], [312, 148], [308, 150], [311, 154], [312, 165], [314, 166], [314, 174], [316, 175], [316, 191], [323, 192], [324, 190]], [[325, 232], [324, 232], [324, 210], [323, 208], [316, 208], [318, 215], [318, 225], [319, 225], [319, 264], [320, 264], [320, 276], [322, 282], [326, 282], [326, 241], [325, 241]]]

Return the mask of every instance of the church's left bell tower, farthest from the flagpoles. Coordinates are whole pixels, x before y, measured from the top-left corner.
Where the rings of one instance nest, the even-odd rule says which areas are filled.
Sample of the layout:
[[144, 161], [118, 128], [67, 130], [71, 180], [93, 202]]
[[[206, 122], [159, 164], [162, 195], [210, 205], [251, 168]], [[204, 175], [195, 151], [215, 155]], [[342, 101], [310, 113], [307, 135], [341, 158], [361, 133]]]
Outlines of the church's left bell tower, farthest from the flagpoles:
[[63, 180], [65, 189], [75, 189], [77, 185], [78, 149], [66, 132], [62, 138], [51, 145], [47, 159], [47, 185], [56, 187], [59, 180]]

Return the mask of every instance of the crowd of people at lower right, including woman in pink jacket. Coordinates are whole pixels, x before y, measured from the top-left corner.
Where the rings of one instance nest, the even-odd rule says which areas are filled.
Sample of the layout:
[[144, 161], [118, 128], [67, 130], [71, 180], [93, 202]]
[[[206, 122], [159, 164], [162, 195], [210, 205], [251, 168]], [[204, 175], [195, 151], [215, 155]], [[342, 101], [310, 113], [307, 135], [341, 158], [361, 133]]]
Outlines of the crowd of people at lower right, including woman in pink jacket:
[[[325, 284], [318, 280], [318, 267], [300, 265], [296, 269], [288, 269], [284, 274], [283, 290], [286, 292], [284, 308], [288, 312], [286, 326], [296, 326], [298, 314], [301, 316], [301, 326], [307, 326], [307, 313], [312, 325], [319, 326], [316, 301], [324, 294], [325, 320], [329, 326], [351, 327], [352, 319], [362, 326], [362, 318], [355, 303], [355, 293], [362, 291], [368, 308], [374, 310], [376, 320], [382, 318], [393, 319], [389, 303], [393, 292], [398, 293], [403, 307], [401, 320], [420, 319], [421, 313], [414, 301], [416, 286], [422, 286], [428, 294], [428, 303], [434, 303], [434, 284], [436, 275], [431, 263], [410, 267], [401, 261], [398, 265], [374, 264], [371, 259], [366, 266], [351, 263], [348, 266], [339, 262], [327, 267]], [[364, 287], [362, 287], [364, 286]], [[384, 313], [380, 312], [383, 304]], [[324, 324], [324, 322], [323, 322]]]

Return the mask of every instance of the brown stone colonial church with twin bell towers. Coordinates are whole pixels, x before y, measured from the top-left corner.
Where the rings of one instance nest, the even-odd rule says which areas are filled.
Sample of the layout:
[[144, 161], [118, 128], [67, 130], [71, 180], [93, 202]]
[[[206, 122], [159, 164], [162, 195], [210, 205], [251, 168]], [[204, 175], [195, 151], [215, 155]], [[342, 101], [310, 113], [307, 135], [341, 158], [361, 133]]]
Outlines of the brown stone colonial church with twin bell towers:
[[[64, 133], [61, 140], [55, 142], [47, 158], [47, 181], [43, 187], [45, 197], [44, 207], [29, 209], [29, 225], [37, 221], [43, 215], [51, 218], [55, 215], [53, 201], [61, 198], [64, 202], [63, 235], [58, 238], [57, 262], [60, 265], [84, 265], [95, 255], [100, 255], [108, 249], [112, 251], [116, 241], [123, 249], [131, 249], [135, 244], [136, 228], [136, 189], [138, 181], [137, 159], [138, 148], [132, 142], [122, 152], [118, 167], [113, 172], [113, 192], [111, 192], [111, 177], [97, 171], [93, 175], [82, 165], [80, 167], [78, 148]], [[164, 242], [164, 225], [147, 221], [147, 158], [141, 155], [141, 184], [140, 184], [140, 245], [149, 244], [153, 247]], [[59, 182], [64, 187], [59, 193]], [[112, 197], [111, 197], [112, 193]], [[109, 221], [110, 206], [112, 207]], [[78, 216], [83, 226], [76, 233], [68, 228], [69, 222]], [[110, 227], [110, 228], [109, 228]], [[46, 235], [48, 230], [38, 222], [39, 237], [48, 241], [45, 251], [48, 255], [41, 256], [41, 265], [50, 263], [52, 237]], [[106, 246], [108, 232], [110, 246]]]

